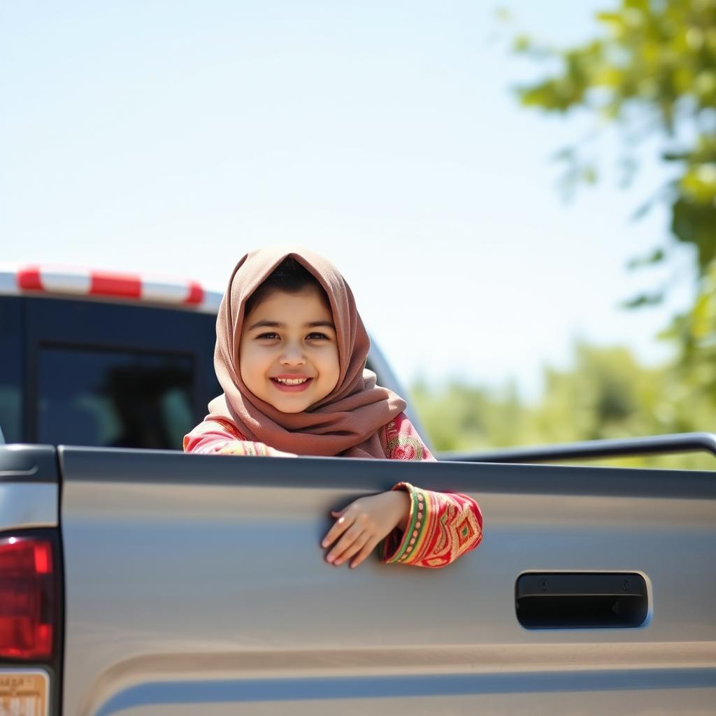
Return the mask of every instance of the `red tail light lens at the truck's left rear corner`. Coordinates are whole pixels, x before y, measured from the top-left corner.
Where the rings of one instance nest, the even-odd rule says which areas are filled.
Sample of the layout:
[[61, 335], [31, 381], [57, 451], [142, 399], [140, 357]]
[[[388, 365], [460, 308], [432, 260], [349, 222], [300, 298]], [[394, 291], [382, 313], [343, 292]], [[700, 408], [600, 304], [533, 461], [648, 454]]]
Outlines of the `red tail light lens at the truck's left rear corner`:
[[52, 542], [0, 539], [0, 657], [52, 656], [54, 587]]

